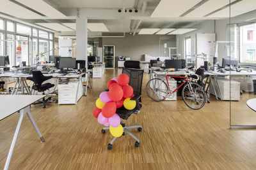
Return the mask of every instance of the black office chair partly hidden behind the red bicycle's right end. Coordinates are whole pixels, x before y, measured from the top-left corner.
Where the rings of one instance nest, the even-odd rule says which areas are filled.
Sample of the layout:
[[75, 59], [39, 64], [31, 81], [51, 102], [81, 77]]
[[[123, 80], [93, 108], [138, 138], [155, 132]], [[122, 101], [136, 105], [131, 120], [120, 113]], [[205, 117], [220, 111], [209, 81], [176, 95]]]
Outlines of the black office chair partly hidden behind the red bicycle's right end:
[[[211, 82], [209, 82], [209, 84], [207, 85], [207, 81], [209, 80], [210, 75], [209, 74], [204, 74], [204, 68], [196, 69], [195, 74], [197, 74], [199, 76], [199, 80], [197, 81], [197, 83], [203, 87], [205, 94], [207, 94], [206, 95], [207, 103], [210, 103], [210, 97], [209, 97], [208, 90], [209, 90], [209, 84]], [[204, 81], [205, 78], [206, 78], [206, 80]], [[211, 79], [210, 79], [210, 81], [211, 81]], [[206, 87], [206, 85], [207, 85], [207, 87]]]

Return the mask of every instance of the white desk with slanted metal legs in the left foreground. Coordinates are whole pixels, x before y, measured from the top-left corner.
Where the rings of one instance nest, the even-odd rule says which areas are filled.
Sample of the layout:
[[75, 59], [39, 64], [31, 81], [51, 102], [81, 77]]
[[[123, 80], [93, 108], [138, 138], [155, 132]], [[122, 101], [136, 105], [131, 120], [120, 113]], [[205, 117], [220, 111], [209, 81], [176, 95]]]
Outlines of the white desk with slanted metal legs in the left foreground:
[[0, 96], [0, 108], [1, 108], [1, 113], [0, 113], [0, 120], [3, 120], [6, 117], [9, 117], [10, 115], [12, 115], [13, 113], [16, 113], [17, 111], [19, 111], [20, 113], [20, 117], [19, 117], [19, 121], [12, 139], [12, 144], [4, 165], [4, 170], [7, 170], [10, 164], [10, 160], [12, 159], [12, 153], [14, 150], [14, 146], [19, 134], [19, 130], [20, 130], [20, 125], [22, 123], [22, 119], [24, 117], [24, 115], [28, 115], [29, 120], [31, 121], [33, 127], [35, 128], [39, 138], [41, 139], [41, 143], [44, 142], [44, 138], [41, 134], [41, 132], [39, 131], [34, 118], [32, 117], [31, 113], [30, 113], [30, 104], [35, 103], [36, 101], [42, 99], [43, 97], [45, 97], [44, 95], [25, 95], [25, 96], [12, 96], [12, 95], [3, 95]]

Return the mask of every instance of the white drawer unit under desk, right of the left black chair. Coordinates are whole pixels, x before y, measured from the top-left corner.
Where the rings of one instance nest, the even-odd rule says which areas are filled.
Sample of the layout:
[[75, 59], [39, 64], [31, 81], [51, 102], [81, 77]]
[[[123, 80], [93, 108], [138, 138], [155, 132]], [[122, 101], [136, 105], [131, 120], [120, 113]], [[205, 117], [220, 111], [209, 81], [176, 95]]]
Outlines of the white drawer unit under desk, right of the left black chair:
[[58, 84], [58, 104], [76, 104], [83, 95], [83, 85], [79, 81]]

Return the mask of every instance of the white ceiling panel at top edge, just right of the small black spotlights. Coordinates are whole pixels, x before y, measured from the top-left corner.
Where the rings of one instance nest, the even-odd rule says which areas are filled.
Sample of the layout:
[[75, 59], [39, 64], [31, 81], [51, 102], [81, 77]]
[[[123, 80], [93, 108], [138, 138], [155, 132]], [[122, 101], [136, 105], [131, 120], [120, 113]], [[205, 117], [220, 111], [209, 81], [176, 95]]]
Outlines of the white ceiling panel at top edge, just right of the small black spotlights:
[[150, 17], [173, 18], [179, 17], [182, 13], [200, 3], [202, 0], [161, 0]]

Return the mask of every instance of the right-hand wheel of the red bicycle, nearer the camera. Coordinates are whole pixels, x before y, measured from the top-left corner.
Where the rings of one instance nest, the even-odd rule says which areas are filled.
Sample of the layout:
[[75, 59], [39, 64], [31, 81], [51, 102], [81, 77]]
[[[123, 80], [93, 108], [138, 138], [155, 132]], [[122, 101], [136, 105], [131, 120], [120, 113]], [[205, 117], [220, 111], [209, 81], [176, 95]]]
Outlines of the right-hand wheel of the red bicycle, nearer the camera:
[[198, 83], [189, 81], [182, 89], [184, 103], [193, 110], [199, 110], [205, 104], [206, 94]]

